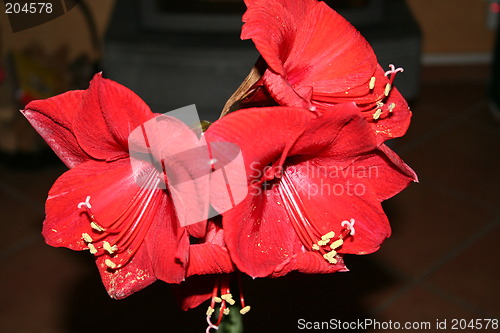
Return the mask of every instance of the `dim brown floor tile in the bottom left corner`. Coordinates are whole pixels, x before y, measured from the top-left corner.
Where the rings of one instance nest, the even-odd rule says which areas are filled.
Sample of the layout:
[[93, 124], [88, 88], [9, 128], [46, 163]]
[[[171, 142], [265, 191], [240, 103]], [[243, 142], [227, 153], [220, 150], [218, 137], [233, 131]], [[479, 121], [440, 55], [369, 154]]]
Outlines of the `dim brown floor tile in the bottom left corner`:
[[63, 332], [65, 295], [81, 269], [60, 249], [35, 244], [2, 260], [0, 331]]

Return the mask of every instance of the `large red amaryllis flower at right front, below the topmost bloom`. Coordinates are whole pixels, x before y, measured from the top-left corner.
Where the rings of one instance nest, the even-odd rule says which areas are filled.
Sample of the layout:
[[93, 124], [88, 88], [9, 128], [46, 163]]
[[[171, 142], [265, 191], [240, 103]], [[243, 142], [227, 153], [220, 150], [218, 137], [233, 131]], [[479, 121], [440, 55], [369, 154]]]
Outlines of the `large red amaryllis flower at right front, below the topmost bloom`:
[[253, 277], [344, 270], [338, 253], [376, 251], [390, 234], [380, 202], [414, 172], [353, 103], [317, 117], [300, 108], [236, 111], [206, 132], [241, 147], [250, 191], [223, 214], [236, 266]]

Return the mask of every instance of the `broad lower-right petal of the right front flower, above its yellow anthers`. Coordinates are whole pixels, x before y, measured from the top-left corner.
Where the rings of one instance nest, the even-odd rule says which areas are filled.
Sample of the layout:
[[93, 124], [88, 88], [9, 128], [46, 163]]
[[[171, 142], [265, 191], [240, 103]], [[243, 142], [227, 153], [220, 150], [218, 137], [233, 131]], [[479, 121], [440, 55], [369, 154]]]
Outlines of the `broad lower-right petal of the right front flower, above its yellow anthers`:
[[[344, 169], [333, 160], [323, 164], [309, 161], [290, 166], [287, 174], [299, 192], [304, 209], [319, 231], [339, 235], [342, 221], [354, 219], [355, 235], [344, 241], [339, 252], [366, 254], [380, 247], [390, 235], [389, 221], [380, 205], [370, 178], [358, 172], [369, 172], [366, 166]], [[360, 169], [358, 169], [358, 167]], [[359, 171], [361, 170], [361, 171]]]

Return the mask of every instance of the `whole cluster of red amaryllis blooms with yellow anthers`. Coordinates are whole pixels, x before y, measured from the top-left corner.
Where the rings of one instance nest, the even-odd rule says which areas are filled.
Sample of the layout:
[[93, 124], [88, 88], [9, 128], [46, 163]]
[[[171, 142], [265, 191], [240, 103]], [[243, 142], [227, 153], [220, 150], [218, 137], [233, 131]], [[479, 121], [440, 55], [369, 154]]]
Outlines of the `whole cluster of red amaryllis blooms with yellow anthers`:
[[[118, 83], [97, 74], [87, 90], [22, 111], [70, 168], [47, 198], [47, 243], [90, 251], [113, 298], [163, 280], [179, 284], [184, 309], [211, 299], [208, 318], [218, 304], [220, 315], [209, 329], [235, 303], [231, 273], [333, 273], [347, 270], [344, 254], [376, 251], [390, 235], [381, 202], [416, 181], [384, 143], [410, 122], [393, 87], [402, 70], [384, 71], [359, 32], [323, 2], [246, 4], [242, 38], [261, 59], [203, 134], [209, 146], [230, 142], [243, 155], [248, 194], [222, 217], [184, 226], [172, 193], [159, 186], [169, 182], [165, 169], [131, 167], [132, 131], [158, 115]], [[175, 118], [161, 122], [156, 154], [198, 139]], [[172, 128], [182, 142], [169, 140]], [[218, 200], [211, 198], [216, 209]], [[193, 275], [204, 277], [201, 288]], [[242, 293], [240, 302], [247, 312]]]

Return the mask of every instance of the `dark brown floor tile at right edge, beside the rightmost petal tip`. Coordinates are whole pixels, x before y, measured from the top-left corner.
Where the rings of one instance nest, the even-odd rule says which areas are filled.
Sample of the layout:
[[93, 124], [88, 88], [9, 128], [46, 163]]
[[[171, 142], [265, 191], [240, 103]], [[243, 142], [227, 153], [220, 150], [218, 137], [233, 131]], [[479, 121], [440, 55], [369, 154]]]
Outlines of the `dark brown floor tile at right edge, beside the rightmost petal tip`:
[[500, 204], [499, 142], [500, 131], [482, 131], [477, 123], [464, 122], [402, 155], [422, 183], [444, 186], [495, 209]]

